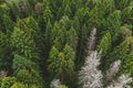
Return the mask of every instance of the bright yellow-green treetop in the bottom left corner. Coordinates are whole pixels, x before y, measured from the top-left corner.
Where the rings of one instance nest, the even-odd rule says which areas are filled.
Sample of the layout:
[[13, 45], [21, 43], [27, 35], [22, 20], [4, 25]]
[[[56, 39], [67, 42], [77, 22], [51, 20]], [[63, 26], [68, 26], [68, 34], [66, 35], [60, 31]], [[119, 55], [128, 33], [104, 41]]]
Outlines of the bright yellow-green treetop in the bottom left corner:
[[3, 77], [1, 81], [1, 88], [10, 88], [16, 81], [16, 77]]

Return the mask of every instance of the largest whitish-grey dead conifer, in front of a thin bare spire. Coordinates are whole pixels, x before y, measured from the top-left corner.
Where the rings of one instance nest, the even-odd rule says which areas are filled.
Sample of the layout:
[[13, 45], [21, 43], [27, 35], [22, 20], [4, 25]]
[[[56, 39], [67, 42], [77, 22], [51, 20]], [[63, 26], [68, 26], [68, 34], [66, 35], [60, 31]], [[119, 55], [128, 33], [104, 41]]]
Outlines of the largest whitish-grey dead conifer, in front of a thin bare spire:
[[79, 80], [80, 84], [83, 85], [83, 88], [101, 88], [103, 86], [103, 75], [101, 70], [98, 69], [100, 58], [101, 56], [98, 52], [92, 52], [90, 56], [86, 56], [84, 66], [79, 73]]

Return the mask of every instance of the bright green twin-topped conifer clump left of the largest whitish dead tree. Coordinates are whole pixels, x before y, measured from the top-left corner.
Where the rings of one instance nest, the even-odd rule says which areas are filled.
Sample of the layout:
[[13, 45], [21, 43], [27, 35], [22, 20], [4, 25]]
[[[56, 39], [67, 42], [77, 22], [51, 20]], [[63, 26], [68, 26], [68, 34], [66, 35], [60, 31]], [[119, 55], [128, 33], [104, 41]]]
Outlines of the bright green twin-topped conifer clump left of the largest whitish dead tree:
[[62, 53], [53, 46], [48, 59], [48, 68], [55, 76], [60, 76], [64, 72], [70, 74], [74, 68], [74, 58], [75, 53], [68, 44], [65, 44]]

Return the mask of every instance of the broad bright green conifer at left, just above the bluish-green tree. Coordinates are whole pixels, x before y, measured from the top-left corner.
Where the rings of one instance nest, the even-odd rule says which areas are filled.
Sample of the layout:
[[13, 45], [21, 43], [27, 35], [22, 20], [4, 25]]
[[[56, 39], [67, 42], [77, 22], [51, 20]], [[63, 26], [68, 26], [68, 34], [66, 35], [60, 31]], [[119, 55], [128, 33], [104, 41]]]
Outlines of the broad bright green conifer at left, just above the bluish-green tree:
[[11, 46], [17, 54], [24, 55], [29, 58], [37, 58], [33, 40], [18, 28], [14, 28], [13, 33], [11, 34]]

